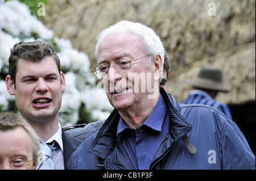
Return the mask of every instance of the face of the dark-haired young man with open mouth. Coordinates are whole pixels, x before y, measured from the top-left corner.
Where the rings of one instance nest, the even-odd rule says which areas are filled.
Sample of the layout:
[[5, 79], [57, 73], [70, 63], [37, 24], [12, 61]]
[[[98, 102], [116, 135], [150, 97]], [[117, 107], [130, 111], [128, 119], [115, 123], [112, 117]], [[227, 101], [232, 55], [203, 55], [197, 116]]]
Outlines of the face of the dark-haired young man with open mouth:
[[8, 76], [6, 83], [9, 93], [15, 95], [19, 112], [28, 121], [38, 122], [59, 116], [65, 79], [62, 72], [59, 74], [53, 57], [39, 62], [19, 59], [15, 88]]

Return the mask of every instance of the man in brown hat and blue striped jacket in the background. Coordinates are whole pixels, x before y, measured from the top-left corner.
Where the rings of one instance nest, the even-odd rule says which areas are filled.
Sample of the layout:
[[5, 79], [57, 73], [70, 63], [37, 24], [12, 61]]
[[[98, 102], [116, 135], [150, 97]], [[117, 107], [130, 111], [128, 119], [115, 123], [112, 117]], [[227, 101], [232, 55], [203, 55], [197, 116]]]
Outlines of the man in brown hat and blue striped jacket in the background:
[[223, 84], [221, 69], [203, 66], [193, 82], [189, 82], [194, 90], [189, 92], [183, 104], [204, 104], [221, 110], [229, 119], [232, 119], [228, 106], [219, 103], [216, 98], [218, 92], [229, 92]]

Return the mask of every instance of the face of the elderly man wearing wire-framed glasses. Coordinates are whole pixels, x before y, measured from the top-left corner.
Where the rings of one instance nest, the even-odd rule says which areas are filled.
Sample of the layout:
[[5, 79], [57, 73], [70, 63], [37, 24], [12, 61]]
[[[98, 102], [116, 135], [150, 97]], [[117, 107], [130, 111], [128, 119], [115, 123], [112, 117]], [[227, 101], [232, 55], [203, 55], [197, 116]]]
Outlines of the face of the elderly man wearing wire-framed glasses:
[[[147, 102], [148, 95], [152, 94], [152, 87], [154, 86], [153, 73], [156, 72], [155, 79], [159, 79], [160, 73], [158, 71], [160, 70], [159, 65], [155, 65], [156, 58], [154, 57], [151, 60], [151, 66], [147, 67], [149, 56], [131, 61], [131, 69], [125, 73], [115, 70], [113, 63], [122, 58], [132, 60], [145, 55], [146, 52], [141, 43], [141, 38], [131, 32], [115, 33], [106, 36], [101, 41], [98, 48], [98, 63], [111, 65], [108, 76], [103, 79], [103, 83], [109, 102], [117, 110], [123, 110], [131, 106], [138, 106], [139, 108], [139, 104]], [[158, 80], [155, 82], [158, 86]]]

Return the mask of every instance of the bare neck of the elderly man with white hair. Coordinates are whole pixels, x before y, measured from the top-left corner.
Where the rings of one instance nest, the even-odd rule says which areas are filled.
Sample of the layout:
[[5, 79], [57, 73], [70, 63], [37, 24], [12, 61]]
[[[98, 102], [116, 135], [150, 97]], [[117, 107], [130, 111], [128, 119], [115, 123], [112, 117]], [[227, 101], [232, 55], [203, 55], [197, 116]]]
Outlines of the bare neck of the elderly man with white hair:
[[143, 123], [154, 110], [154, 107], [158, 102], [158, 98], [159, 94], [155, 99], [146, 99], [146, 101], [141, 101], [136, 106], [132, 106], [125, 110], [118, 110], [118, 112], [130, 128], [141, 128]]

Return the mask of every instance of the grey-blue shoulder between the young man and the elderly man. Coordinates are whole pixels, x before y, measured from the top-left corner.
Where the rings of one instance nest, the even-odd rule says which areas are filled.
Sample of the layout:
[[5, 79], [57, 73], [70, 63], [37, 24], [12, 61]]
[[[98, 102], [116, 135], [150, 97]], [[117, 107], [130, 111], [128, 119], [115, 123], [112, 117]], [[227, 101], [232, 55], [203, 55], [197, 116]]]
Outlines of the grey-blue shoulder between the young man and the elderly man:
[[91, 134], [96, 132], [105, 123], [105, 120], [96, 121], [89, 124], [72, 125], [63, 128], [65, 134], [84, 141]]

